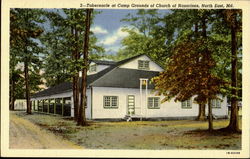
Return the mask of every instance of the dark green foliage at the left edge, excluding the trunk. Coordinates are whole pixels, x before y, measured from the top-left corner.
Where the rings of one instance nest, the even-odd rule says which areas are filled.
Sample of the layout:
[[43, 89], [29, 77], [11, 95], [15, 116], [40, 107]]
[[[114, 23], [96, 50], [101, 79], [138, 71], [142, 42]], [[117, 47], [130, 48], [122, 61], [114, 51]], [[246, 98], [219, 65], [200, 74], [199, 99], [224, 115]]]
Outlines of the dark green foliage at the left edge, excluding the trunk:
[[[24, 74], [23, 65], [26, 61], [29, 67], [31, 92], [39, 90], [41, 81], [39, 68], [41, 52], [35, 41], [42, 32], [37, 25], [43, 22], [39, 17], [41, 11], [37, 9], [11, 9], [10, 10], [10, 83], [16, 83], [15, 97], [24, 97]], [[25, 79], [27, 80], [27, 79]], [[10, 85], [11, 86], [11, 85]], [[10, 89], [11, 90], [11, 89]]]

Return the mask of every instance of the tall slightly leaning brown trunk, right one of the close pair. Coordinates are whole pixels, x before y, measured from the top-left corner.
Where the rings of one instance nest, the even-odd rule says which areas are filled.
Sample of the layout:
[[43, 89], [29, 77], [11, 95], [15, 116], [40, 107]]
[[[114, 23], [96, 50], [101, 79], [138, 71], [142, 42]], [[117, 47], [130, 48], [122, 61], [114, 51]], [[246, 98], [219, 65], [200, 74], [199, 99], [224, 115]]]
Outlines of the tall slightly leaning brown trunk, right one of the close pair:
[[81, 85], [81, 102], [79, 108], [79, 115], [77, 125], [85, 126], [87, 125], [85, 116], [85, 106], [86, 101], [86, 90], [87, 90], [87, 66], [88, 66], [88, 48], [89, 48], [89, 30], [91, 21], [91, 12], [93, 9], [86, 9], [86, 19], [85, 19], [85, 36], [84, 36], [84, 46], [83, 46], [83, 58], [84, 58], [84, 68], [82, 69], [82, 85]]

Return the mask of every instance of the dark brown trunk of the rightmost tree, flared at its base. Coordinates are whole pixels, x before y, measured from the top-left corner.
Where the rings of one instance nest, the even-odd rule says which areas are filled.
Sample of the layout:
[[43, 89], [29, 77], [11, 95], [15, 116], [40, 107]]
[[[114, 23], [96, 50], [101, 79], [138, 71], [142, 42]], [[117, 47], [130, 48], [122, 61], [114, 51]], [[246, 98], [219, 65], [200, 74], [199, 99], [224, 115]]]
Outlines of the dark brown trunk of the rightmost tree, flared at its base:
[[232, 98], [231, 98], [231, 116], [227, 129], [231, 132], [239, 132], [238, 124], [238, 102], [237, 102], [237, 41], [236, 41], [236, 16], [233, 15], [234, 23], [231, 25], [231, 52], [232, 52]]

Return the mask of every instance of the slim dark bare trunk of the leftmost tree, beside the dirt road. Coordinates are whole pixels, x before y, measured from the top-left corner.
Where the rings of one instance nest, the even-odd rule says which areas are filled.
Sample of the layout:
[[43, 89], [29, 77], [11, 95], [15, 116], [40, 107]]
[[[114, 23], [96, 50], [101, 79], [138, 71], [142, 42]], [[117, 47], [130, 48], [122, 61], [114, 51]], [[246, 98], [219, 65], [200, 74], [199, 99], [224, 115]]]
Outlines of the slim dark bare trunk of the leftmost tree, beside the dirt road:
[[[26, 52], [27, 53], [27, 52]], [[31, 114], [31, 105], [30, 105], [30, 86], [29, 86], [29, 69], [27, 57], [24, 62], [24, 77], [25, 77], [25, 95], [27, 103], [27, 114]]]

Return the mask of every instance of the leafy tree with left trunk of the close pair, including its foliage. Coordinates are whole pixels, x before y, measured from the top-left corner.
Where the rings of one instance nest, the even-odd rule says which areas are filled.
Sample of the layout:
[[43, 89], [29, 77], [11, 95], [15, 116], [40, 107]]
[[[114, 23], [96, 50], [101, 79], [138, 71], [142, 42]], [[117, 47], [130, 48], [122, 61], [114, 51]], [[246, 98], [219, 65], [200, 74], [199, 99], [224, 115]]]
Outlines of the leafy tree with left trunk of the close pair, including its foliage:
[[[74, 99], [74, 118], [78, 119], [79, 112], [79, 72], [83, 56], [82, 43], [85, 24], [82, 19], [86, 17], [84, 9], [53, 9], [45, 10], [50, 23], [50, 29], [43, 37], [46, 45], [47, 56], [45, 59], [45, 79], [48, 86], [53, 86], [65, 81], [72, 81]], [[97, 38], [90, 34], [89, 56], [98, 59], [104, 56], [104, 49], [98, 46]]]

